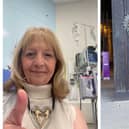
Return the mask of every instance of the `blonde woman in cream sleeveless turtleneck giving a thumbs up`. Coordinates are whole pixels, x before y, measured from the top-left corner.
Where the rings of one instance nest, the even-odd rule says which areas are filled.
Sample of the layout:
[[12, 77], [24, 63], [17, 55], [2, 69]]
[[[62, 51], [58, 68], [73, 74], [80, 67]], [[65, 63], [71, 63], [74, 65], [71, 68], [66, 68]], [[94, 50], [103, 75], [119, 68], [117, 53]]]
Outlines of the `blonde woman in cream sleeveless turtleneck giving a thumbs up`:
[[80, 110], [64, 101], [69, 93], [64, 64], [53, 32], [26, 31], [4, 86], [4, 129], [87, 129]]

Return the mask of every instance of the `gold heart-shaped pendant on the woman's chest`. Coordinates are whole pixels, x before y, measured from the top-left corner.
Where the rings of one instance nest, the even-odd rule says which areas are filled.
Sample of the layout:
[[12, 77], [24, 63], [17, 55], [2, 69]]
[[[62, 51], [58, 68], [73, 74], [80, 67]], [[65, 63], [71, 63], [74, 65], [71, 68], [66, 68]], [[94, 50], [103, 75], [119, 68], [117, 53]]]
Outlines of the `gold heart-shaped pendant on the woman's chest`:
[[49, 107], [45, 107], [45, 109], [42, 111], [38, 106], [36, 106], [34, 110], [31, 110], [31, 114], [39, 129], [41, 129], [46, 125], [51, 114], [51, 109]]

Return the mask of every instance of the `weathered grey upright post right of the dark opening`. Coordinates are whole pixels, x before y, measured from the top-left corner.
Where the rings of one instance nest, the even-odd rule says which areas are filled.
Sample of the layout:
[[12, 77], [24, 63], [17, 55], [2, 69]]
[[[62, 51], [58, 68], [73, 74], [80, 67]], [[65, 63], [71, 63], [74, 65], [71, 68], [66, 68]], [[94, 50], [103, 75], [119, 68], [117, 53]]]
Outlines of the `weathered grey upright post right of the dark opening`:
[[117, 93], [129, 92], [129, 34], [123, 27], [127, 14], [129, 0], [112, 0], [114, 86]]

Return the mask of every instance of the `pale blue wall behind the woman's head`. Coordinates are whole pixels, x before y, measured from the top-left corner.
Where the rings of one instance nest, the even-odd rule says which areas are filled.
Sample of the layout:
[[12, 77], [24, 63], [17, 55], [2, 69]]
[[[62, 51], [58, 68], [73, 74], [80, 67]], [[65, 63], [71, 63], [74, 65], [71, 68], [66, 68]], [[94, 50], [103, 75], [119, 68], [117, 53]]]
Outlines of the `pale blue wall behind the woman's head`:
[[3, 0], [3, 68], [12, 64], [14, 48], [27, 28], [49, 27], [55, 31], [53, 0]]

